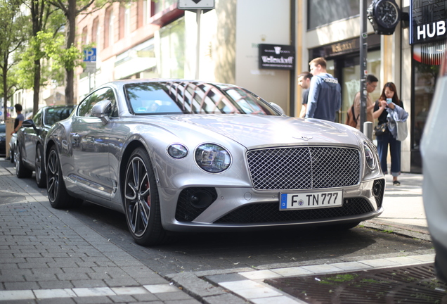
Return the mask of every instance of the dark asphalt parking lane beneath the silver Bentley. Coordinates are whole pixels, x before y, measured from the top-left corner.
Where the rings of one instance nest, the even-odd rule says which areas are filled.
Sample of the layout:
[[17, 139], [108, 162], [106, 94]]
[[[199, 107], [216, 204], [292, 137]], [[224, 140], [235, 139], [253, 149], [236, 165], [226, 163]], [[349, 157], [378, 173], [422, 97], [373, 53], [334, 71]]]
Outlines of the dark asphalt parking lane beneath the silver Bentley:
[[[37, 189], [34, 179], [28, 180]], [[45, 189], [39, 191], [46, 195]], [[361, 226], [341, 232], [330, 228], [297, 228], [181, 234], [171, 243], [148, 248], [134, 243], [121, 213], [88, 202], [70, 213], [162, 275], [433, 252], [429, 241]]]

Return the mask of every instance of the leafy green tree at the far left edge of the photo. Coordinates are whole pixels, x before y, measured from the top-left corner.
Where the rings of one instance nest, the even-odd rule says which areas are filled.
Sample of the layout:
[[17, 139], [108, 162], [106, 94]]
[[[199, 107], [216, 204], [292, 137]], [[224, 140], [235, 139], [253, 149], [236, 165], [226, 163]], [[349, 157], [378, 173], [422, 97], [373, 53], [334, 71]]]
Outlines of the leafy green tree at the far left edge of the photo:
[[27, 40], [26, 25], [30, 22], [21, 13], [18, 0], [0, 0], [0, 16], [0, 79], [6, 115], [8, 99], [19, 89], [12, 73], [18, 63], [17, 55]]

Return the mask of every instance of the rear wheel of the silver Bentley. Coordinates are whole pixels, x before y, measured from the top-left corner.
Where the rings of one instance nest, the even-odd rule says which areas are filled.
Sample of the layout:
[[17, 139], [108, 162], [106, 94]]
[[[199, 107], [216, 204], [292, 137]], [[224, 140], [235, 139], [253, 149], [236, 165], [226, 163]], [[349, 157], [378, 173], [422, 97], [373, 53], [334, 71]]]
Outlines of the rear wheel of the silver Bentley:
[[62, 177], [62, 170], [60, 170], [58, 151], [55, 146], [51, 147], [50, 153], [48, 154], [46, 191], [48, 192], [48, 201], [50, 201], [51, 207], [53, 208], [70, 208], [82, 203], [82, 200], [74, 198], [67, 193]]

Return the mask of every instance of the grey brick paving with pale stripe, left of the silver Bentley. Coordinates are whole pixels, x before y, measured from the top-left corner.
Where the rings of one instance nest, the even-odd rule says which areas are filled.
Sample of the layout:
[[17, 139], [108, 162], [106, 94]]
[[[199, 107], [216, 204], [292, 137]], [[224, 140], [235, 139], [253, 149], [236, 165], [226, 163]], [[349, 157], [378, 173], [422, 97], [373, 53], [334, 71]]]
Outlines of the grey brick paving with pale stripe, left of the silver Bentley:
[[27, 182], [0, 159], [0, 303], [200, 303]]

